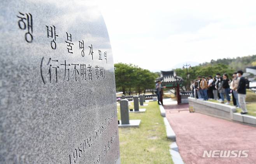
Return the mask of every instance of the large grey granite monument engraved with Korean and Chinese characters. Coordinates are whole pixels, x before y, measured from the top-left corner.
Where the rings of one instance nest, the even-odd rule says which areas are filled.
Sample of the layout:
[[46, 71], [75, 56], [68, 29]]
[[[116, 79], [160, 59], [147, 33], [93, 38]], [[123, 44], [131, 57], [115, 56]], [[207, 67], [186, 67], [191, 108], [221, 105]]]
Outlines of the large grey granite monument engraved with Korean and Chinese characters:
[[0, 163], [121, 163], [112, 51], [95, 2], [0, 7]]

